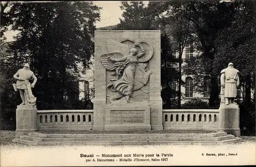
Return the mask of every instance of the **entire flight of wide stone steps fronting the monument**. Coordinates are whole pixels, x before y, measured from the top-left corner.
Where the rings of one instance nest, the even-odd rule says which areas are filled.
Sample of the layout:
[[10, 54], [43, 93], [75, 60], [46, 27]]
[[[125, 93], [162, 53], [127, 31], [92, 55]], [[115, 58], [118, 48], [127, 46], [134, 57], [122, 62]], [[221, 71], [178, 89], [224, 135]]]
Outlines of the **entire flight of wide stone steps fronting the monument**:
[[46, 134], [29, 133], [13, 142], [27, 145], [216, 145], [241, 141], [226, 132], [168, 134]]

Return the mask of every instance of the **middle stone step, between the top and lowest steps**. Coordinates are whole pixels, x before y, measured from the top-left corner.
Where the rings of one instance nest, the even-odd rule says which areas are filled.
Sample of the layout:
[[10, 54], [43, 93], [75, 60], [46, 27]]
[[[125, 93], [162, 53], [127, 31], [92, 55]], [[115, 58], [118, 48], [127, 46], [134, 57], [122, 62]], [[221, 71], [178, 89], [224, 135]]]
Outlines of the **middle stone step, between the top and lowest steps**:
[[86, 138], [70, 138], [70, 137], [33, 137], [33, 136], [20, 136], [21, 139], [32, 141], [219, 141], [234, 138], [233, 135], [218, 136], [218, 137], [86, 137]]

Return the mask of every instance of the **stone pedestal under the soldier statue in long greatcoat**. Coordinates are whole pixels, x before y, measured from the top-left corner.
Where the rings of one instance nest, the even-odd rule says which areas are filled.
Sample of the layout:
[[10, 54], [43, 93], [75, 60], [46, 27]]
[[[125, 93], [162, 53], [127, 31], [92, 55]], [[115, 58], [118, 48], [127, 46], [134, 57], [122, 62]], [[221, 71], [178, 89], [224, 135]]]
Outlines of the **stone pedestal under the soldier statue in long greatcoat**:
[[240, 136], [239, 128], [239, 107], [234, 104], [221, 104], [219, 113], [219, 129], [221, 131], [232, 134], [236, 137]]

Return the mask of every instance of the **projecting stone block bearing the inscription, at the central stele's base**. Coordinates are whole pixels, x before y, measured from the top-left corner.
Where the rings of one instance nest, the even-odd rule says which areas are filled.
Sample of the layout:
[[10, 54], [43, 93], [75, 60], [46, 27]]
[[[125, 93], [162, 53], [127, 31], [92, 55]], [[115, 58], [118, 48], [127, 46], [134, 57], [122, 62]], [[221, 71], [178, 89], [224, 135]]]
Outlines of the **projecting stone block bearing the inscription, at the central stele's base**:
[[105, 130], [151, 130], [150, 105], [106, 105]]

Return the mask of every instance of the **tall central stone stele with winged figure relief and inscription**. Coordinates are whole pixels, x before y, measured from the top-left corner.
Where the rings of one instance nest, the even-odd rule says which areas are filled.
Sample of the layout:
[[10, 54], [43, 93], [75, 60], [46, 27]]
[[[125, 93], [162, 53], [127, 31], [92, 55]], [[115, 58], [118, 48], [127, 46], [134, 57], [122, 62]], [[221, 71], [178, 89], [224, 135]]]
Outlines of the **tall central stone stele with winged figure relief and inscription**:
[[95, 130], [162, 130], [160, 31], [95, 31]]

